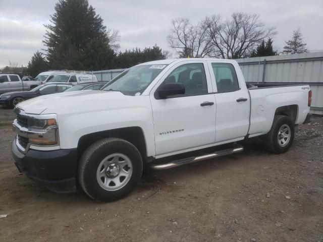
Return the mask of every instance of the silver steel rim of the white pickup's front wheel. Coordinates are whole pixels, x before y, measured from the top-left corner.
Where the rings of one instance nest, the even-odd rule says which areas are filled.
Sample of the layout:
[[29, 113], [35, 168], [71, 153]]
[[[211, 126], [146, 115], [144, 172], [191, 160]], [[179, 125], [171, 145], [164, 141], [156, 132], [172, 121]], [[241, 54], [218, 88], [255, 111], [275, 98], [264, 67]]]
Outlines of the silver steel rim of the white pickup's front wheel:
[[97, 183], [106, 191], [117, 191], [130, 180], [132, 162], [128, 156], [114, 153], [106, 156], [96, 170]]

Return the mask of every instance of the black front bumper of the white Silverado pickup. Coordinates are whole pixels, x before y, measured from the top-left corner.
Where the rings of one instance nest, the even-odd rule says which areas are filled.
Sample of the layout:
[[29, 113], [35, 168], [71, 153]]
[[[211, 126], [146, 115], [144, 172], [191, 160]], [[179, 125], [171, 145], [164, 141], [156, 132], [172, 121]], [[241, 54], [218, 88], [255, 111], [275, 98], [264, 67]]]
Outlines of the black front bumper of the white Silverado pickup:
[[32, 150], [22, 153], [15, 138], [12, 154], [18, 170], [38, 184], [55, 192], [76, 191], [77, 150]]

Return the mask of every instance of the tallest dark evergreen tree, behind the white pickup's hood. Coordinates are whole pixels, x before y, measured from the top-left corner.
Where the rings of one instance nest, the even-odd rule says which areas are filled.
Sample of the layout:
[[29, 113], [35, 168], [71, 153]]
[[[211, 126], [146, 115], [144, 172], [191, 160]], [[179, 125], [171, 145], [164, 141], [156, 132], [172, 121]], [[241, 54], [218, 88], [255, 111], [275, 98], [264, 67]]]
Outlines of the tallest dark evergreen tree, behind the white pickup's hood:
[[43, 40], [52, 69], [102, 70], [113, 65], [109, 33], [87, 0], [59, 0]]

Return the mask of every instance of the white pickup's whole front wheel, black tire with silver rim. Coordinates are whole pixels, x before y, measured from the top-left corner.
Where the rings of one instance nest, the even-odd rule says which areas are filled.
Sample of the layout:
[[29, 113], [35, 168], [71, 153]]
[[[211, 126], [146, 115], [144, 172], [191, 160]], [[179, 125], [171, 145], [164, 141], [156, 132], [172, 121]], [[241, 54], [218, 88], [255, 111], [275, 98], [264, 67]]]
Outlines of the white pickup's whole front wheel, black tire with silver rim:
[[128, 141], [106, 138], [83, 153], [78, 179], [83, 191], [99, 202], [111, 202], [127, 196], [139, 183], [142, 157]]

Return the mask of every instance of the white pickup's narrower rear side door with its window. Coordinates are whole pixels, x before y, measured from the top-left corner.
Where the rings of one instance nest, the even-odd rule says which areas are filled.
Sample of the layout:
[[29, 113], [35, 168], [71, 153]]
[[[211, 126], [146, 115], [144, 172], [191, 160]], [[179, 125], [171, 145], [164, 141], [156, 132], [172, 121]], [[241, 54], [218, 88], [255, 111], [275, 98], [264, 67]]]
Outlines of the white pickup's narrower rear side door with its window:
[[248, 133], [250, 108], [243, 78], [238, 78], [231, 63], [208, 61], [208, 66], [217, 102], [216, 142], [241, 140]]

